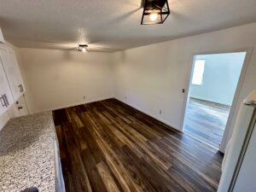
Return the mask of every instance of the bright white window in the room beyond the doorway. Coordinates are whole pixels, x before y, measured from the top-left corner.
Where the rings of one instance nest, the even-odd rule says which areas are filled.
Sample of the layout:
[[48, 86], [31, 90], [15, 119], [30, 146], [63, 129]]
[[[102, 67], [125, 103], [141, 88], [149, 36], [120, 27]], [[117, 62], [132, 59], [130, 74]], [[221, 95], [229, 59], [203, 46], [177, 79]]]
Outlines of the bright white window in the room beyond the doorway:
[[201, 85], [205, 70], [205, 60], [195, 60], [192, 84]]

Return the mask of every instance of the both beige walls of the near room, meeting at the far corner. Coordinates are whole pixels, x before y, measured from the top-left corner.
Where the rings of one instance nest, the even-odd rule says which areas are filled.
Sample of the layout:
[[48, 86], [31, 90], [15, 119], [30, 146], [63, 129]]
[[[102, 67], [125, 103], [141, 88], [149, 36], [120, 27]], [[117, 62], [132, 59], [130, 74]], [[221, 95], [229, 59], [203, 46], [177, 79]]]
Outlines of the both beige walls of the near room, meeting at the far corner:
[[[26, 101], [33, 113], [115, 96], [182, 130], [186, 102], [182, 89], [189, 86], [193, 55], [253, 48], [255, 34], [253, 23], [113, 54], [19, 49]], [[241, 101], [256, 89], [255, 51], [249, 59], [225, 141], [231, 136]]]

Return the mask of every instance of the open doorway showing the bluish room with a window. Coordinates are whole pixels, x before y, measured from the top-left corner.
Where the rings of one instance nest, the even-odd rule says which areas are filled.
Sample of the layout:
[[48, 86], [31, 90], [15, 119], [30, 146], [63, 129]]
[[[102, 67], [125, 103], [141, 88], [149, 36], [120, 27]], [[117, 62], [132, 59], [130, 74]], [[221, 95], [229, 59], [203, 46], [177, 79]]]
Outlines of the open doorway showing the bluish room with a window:
[[247, 52], [195, 55], [183, 131], [219, 148]]

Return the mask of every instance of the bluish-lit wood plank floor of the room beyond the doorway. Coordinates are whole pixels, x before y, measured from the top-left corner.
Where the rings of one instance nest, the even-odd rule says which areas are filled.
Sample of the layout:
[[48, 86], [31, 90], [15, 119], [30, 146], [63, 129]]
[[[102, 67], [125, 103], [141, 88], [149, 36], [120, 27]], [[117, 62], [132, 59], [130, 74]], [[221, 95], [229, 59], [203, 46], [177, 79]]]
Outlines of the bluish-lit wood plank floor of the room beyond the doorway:
[[189, 98], [184, 131], [219, 148], [229, 113], [228, 106]]

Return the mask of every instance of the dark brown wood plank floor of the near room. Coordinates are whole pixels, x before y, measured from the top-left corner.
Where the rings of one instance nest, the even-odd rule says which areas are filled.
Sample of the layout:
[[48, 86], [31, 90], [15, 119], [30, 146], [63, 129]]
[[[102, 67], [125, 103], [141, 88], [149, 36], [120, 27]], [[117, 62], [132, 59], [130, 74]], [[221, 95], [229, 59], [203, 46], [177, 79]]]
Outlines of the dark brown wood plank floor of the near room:
[[67, 192], [216, 191], [222, 155], [115, 99], [54, 111]]

